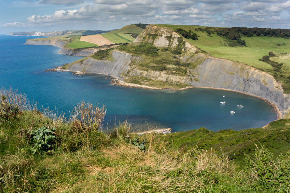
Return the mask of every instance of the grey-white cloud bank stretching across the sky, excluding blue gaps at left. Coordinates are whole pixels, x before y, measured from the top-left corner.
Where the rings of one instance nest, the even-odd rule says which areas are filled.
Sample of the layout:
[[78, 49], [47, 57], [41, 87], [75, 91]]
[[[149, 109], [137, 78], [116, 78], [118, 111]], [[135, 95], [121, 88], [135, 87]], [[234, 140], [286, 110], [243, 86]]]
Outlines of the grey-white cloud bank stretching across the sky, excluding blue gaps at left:
[[132, 23], [287, 26], [289, 13], [286, 16], [285, 13], [290, 12], [290, 0], [280, 0], [279, 3], [270, 0], [18, 0], [10, 6], [24, 4], [43, 7], [47, 4], [51, 4], [50, 6], [62, 4], [71, 5], [71, 8], [59, 8], [54, 13], [46, 15], [32, 15], [32, 12], [32, 16], [29, 16], [26, 22], [21, 18], [17, 22], [10, 21], [12, 23], [1, 26], [70, 24], [78, 26], [79, 29], [88, 24], [119, 26]]

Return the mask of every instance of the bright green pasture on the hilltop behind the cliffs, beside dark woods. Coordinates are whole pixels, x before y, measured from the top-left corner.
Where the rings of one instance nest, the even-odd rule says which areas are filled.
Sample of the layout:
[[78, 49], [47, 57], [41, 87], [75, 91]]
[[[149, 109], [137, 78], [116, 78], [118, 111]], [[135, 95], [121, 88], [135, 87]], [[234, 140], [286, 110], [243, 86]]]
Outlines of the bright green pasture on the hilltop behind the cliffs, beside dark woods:
[[[233, 61], [239, 61], [247, 65], [262, 68], [271, 69], [271, 65], [261, 62], [258, 59], [262, 58], [264, 55], [268, 55], [269, 51], [274, 52], [289, 52], [290, 39], [284, 38], [274, 38], [274, 37], [242, 37], [242, 40], [246, 41], [247, 47], [230, 47], [225, 46], [231, 42], [231, 40], [224, 38], [223, 36], [217, 36], [216, 34], [211, 34], [212, 37], [207, 36], [207, 33], [196, 31], [195, 28], [206, 28], [204, 26], [191, 26], [191, 25], [159, 25], [164, 27], [171, 27], [176, 30], [178, 27], [184, 30], [192, 30], [194, 33], [199, 35], [197, 41], [187, 39], [189, 43], [195, 45], [202, 50], [209, 52], [212, 56], [218, 58], [229, 59]], [[213, 27], [214, 29], [222, 29], [219, 27]], [[285, 43], [286, 45], [278, 46], [277, 44]], [[253, 49], [250, 47], [255, 47], [259, 49]], [[266, 50], [261, 50], [266, 49]]]

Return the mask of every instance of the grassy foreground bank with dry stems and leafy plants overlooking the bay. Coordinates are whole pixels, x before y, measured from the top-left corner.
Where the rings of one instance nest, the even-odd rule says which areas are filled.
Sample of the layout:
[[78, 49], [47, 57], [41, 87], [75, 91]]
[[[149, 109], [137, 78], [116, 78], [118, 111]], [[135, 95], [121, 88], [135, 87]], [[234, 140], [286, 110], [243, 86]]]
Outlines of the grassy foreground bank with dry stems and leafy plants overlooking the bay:
[[[222, 146], [197, 148], [197, 142], [189, 144], [189, 140], [185, 141], [186, 150], [173, 145], [172, 140], [181, 143], [193, 136], [210, 143], [209, 133], [214, 136], [217, 132], [204, 128], [187, 134], [151, 133], [126, 139], [127, 122], [102, 127], [105, 106], [81, 102], [65, 119], [48, 109], [36, 110], [17, 91], [0, 89], [0, 97], [1, 192], [289, 191], [290, 154], [286, 147], [276, 157], [258, 141], [249, 141], [253, 148], [241, 158], [243, 168], [238, 168]], [[276, 144], [289, 143], [288, 123], [272, 123], [276, 124], [273, 134], [278, 127], [285, 131]], [[270, 132], [272, 128], [267, 129]], [[244, 133], [253, 138], [252, 134], [259, 132]], [[178, 137], [180, 134], [186, 135]], [[175, 138], [170, 138], [173, 135]], [[238, 135], [232, 136], [234, 139]]]

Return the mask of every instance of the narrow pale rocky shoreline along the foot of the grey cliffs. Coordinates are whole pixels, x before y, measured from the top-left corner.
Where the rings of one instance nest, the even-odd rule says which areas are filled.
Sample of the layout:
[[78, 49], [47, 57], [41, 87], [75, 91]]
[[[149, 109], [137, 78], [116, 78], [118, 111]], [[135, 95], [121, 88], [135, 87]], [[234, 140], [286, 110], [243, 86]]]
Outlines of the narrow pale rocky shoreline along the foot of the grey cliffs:
[[[51, 69], [48, 69], [51, 70]], [[158, 87], [148, 87], [145, 85], [140, 85], [140, 84], [134, 84], [134, 83], [127, 83], [124, 82], [122, 80], [119, 80], [118, 77], [112, 76], [112, 75], [108, 75], [108, 74], [104, 74], [104, 73], [87, 73], [87, 72], [80, 72], [80, 71], [73, 71], [73, 70], [66, 70], [66, 69], [61, 69], [61, 68], [55, 68], [53, 69], [54, 71], [69, 71], [69, 72], [77, 72], [77, 73], [81, 73], [82, 75], [84, 74], [103, 74], [103, 75], [107, 75], [107, 76], [111, 76], [113, 78], [115, 78], [115, 82], [113, 82], [114, 85], [117, 86], [121, 86], [121, 87], [130, 87], [130, 88], [140, 88], [140, 89], [150, 89], [150, 90], [171, 90], [171, 91], [184, 91], [186, 89], [191, 89], [191, 88], [202, 88], [202, 89], [216, 89], [216, 90], [223, 90], [223, 91], [231, 91], [231, 92], [236, 92], [236, 93], [240, 93], [240, 94], [244, 94], [244, 95], [249, 95], [252, 97], [256, 97], [259, 98], [261, 100], [264, 100], [265, 102], [267, 102], [268, 104], [270, 104], [271, 106], [273, 106], [273, 108], [276, 111], [277, 114], [277, 120], [282, 118], [282, 111], [278, 108], [278, 106], [276, 104], [274, 104], [273, 102], [271, 102], [268, 99], [262, 98], [260, 96], [254, 95], [254, 94], [250, 94], [250, 93], [244, 93], [241, 91], [235, 91], [235, 90], [231, 90], [231, 89], [223, 89], [223, 88], [213, 88], [213, 87], [194, 87], [194, 86], [189, 86], [189, 87], [184, 87], [184, 88], [180, 88], [180, 89], [175, 89], [175, 88], [158, 88]], [[268, 125], [268, 124], [267, 124]], [[267, 126], [265, 125], [265, 126]], [[265, 127], [263, 126], [263, 128]]]

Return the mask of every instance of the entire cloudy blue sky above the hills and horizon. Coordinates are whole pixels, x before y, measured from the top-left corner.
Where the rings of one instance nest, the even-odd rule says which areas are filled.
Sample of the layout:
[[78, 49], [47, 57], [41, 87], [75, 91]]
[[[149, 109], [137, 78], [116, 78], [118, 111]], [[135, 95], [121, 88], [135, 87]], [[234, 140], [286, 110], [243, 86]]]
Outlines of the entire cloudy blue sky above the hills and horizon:
[[290, 29], [290, 0], [0, 0], [0, 34], [134, 23]]

